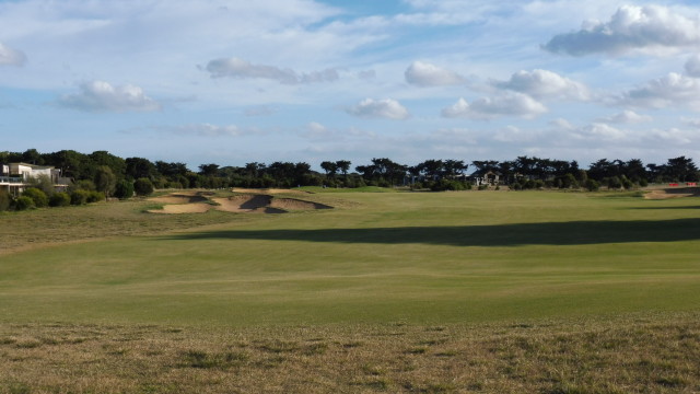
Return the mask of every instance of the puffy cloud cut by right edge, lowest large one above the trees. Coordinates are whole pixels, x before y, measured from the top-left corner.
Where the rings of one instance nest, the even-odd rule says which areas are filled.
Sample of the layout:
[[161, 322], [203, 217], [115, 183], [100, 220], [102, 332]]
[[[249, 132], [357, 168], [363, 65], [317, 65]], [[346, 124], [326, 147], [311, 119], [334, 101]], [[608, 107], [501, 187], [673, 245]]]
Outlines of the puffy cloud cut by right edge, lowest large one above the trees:
[[632, 107], [689, 106], [700, 109], [700, 80], [670, 72], [622, 93], [615, 102]]

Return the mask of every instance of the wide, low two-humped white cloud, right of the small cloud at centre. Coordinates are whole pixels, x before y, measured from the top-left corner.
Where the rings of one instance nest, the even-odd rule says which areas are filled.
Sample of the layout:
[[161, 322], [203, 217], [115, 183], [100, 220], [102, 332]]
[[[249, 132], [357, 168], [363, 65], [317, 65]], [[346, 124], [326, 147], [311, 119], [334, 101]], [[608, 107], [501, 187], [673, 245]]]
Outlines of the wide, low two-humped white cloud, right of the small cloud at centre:
[[547, 107], [533, 97], [522, 93], [513, 93], [497, 97], [482, 97], [471, 104], [459, 99], [454, 105], [444, 108], [442, 116], [470, 119], [492, 119], [503, 116], [533, 118], [546, 112]]

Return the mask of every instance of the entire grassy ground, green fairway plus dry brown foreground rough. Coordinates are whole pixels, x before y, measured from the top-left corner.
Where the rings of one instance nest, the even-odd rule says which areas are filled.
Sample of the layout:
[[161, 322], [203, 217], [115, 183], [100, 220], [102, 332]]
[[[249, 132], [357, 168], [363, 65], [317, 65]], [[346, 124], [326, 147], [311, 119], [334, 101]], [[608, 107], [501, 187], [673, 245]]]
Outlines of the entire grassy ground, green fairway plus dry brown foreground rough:
[[310, 198], [0, 216], [0, 393], [700, 390], [697, 198]]

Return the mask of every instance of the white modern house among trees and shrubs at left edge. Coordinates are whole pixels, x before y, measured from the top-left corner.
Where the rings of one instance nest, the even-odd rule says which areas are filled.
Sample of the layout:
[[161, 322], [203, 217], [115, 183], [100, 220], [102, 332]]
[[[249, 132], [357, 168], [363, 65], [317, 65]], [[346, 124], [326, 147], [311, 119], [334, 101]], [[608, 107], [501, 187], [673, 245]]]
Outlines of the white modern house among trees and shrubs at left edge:
[[34, 181], [46, 176], [57, 190], [68, 188], [70, 179], [61, 177], [61, 171], [47, 165], [26, 163], [0, 164], [0, 189], [16, 196]]

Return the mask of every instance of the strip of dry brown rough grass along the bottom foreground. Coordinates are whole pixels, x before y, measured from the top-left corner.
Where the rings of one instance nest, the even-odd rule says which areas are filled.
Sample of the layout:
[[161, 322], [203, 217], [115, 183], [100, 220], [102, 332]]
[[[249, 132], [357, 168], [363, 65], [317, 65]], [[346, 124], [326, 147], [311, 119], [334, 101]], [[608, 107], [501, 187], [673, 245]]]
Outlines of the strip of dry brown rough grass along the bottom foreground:
[[0, 393], [693, 393], [698, 317], [203, 331], [0, 325]]

